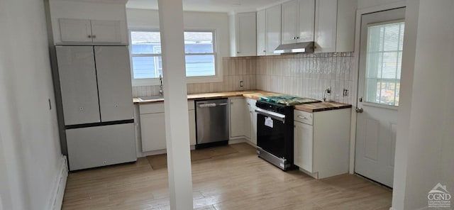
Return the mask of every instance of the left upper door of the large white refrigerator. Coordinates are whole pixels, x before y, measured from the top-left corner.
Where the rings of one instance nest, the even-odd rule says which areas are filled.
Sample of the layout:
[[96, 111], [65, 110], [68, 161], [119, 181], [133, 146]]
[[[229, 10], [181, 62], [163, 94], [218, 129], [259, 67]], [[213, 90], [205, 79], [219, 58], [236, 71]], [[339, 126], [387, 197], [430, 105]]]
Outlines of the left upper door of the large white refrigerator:
[[56, 46], [65, 125], [99, 123], [92, 46]]

